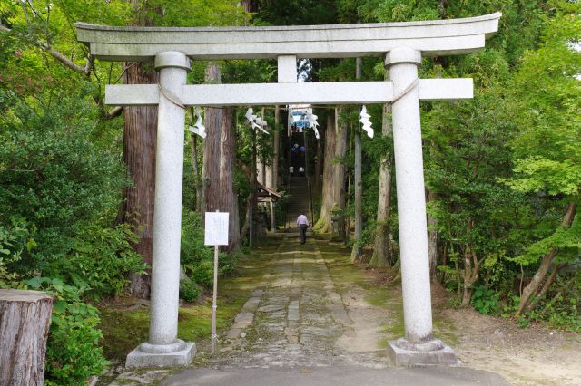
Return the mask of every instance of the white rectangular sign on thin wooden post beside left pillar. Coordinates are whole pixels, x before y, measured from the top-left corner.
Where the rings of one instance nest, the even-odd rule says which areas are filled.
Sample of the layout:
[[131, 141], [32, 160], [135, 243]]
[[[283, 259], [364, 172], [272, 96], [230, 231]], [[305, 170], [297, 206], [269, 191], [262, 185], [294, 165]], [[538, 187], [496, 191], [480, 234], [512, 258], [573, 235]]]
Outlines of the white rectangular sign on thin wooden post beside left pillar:
[[204, 245], [214, 246], [214, 288], [212, 294], [212, 355], [216, 352], [216, 310], [218, 297], [218, 246], [228, 245], [228, 212], [206, 212]]

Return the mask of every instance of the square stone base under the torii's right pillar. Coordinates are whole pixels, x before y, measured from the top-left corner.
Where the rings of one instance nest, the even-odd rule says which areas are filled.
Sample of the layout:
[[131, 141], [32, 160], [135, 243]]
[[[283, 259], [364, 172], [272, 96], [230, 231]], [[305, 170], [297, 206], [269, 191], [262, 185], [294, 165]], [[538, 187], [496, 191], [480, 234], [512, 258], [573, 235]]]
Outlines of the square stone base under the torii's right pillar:
[[[405, 344], [405, 339], [390, 341], [388, 354], [396, 366], [421, 366], [429, 364], [458, 364], [454, 351], [438, 339], [422, 343], [421, 347]], [[407, 347], [406, 347], [407, 346]], [[429, 349], [433, 348], [434, 350]]]

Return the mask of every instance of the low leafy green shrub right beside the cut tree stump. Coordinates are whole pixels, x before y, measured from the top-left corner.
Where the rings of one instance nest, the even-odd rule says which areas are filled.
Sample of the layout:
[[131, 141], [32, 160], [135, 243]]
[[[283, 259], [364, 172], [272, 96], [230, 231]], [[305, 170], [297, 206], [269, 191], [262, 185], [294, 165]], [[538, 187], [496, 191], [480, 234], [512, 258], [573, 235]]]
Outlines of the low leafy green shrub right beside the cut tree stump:
[[108, 362], [99, 341], [98, 310], [81, 301], [85, 288], [65, 285], [60, 279], [34, 277], [25, 281], [34, 290], [54, 296], [54, 308], [46, 349], [45, 383], [76, 385], [103, 372]]

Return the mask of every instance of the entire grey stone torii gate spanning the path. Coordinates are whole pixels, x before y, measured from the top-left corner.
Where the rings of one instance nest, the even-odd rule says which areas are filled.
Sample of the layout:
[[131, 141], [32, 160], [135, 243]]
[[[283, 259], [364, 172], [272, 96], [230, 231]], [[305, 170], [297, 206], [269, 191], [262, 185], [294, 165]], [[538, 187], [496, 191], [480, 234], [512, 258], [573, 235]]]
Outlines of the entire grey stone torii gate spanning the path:
[[[455, 363], [432, 337], [428, 231], [419, 101], [472, 98], [471, 79], [418, 79], [422, 55], [474, 53], [497, 32], [499, 13], [389, 24], [275, 27], [111, 27], [77, 23], [77, 38], [103, 61], [153, 61], [159, 84], [109, 85], [105, 103], [158, 105], [149, 340], [127, 367], [186, 365], [195, 343], [177, 339], [184, 106], [392, 103], [405, 337], [397, 364]], [[385, 57], [389, 82], [297, 82], [297, 57]], [[191, 60], [278, 59], [278, 83], [187, 85]]]

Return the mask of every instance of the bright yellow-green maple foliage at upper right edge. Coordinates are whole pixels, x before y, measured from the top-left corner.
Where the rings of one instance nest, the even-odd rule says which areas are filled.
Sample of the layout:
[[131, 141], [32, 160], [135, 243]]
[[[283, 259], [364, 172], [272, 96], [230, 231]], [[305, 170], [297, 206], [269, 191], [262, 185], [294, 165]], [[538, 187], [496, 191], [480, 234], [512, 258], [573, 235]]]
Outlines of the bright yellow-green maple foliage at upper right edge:
[[581, 5], [557, 2], [543, 44], [527, 52], [512, 82], [519, 135], [512, 143], [515, 177], [526, 192], [578, 196], [581, 189]]

